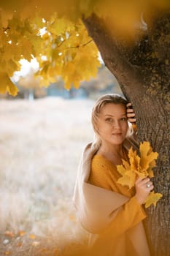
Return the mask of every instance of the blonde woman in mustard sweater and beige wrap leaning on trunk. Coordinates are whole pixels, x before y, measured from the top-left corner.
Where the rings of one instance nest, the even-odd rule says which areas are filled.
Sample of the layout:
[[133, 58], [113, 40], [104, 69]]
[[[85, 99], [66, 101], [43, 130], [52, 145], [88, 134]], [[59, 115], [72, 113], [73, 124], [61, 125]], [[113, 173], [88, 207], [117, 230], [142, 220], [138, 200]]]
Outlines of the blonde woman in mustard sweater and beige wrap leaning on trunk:
[[[106, 94], [93, 107], [96, 140], [86, 146], [80, 161], [74, 203], [82, 226], [90, 233], [93, 255], [149, 256], [142, 220], [142, 204], [153, 189], [150, 178], [137, 178], [134, 189], [117, 183], [116, 165], [128, 161], [128, 149], [137, 148], [131, 136], [127, 101]], [[128, 110], [128, 112], [131, 110]]]

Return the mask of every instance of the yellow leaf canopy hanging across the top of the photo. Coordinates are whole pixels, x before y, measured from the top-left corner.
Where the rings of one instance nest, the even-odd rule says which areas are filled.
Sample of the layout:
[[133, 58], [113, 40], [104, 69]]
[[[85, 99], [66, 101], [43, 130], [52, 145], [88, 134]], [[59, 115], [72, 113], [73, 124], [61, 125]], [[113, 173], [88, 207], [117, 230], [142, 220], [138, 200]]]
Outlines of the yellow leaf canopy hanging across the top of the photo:
[[[41, 76], [42, 85], [48, 86], [61, 76], [66, 89], [78, 88], [81, 80], [96, 75], [100, 65], [98, 49], [80, 22], [82, 15], [88, 17], [94, 12], [109, 20], [111, 33], [126, 35], [128, 39], [137, 31], [141, 12], [150, 14], [152, 9], [161, 10], [169, 5], [168, 0], [1, 0], [0, 72], [11, 77], [20, 68], [20, 59], [30, 61], [34, 56], [39, 61], [37, 75]], [[45, 56], [49, 62], [46, 69]], [[74, 72], [70, 73], [72, 65]], [[15, 86], [3, 85], [7, 84], [7, 76], [4, 78], [1, 93], [10, 91], [16, 95]]]

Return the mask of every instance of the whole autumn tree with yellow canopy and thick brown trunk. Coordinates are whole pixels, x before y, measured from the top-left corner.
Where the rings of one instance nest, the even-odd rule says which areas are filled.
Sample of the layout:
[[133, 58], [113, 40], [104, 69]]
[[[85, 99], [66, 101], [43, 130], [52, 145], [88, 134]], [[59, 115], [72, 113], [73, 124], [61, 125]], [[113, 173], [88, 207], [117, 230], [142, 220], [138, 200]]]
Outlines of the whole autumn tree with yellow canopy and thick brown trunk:
[[[48, 86], [66, 89], [95, 76], [98, 50], [132, 102], [139, 140], [159, 154], [153, 182], [163, 194], [145, 223], [154, 256], [168, 256], [170, 166], [170, 4], [167, 0], [1, 1], [1, 93], [17, 94], [9, 79], [20, 59], [36, 58]], [[94, 43], [95, 42], [95, 43]]]

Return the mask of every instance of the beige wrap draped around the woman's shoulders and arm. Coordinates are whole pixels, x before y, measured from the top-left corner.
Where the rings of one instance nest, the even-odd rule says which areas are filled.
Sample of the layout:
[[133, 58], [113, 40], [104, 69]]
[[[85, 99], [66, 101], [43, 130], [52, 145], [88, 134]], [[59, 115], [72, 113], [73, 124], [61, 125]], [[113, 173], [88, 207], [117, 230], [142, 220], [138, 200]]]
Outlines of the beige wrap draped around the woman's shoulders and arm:
[[[127, 149], [131, 146], [137, 148], [138, 144], [135, 140], [129, 138], [125, 140], [123, 146]], [[88, 183], [90, 163], [95, 153], [96, 149], [89, 143], [80, 159], [73, 197], [74, 206], [77, 209], [82, 227], [88, 230], [89, 233], [94, 234], [91, 235], [91, 241], [96, 240], [96, 234], [109, 225], [119, 208], [129, 200], [124, 195]], [[130, 239], [134, 244], [137, 255], [150, 256], [142, 222], [133, 228]]]

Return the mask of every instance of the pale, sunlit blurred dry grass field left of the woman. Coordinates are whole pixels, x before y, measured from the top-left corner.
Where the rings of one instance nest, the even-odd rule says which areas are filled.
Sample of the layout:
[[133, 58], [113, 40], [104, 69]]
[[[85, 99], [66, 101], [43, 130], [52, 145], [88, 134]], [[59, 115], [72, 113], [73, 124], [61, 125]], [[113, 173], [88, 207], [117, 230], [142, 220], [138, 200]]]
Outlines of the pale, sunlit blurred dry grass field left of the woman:
[[93, 100], [0, 102], [0, 255], [67, 255], [87, 234], [72, 194], [82, 148], [93, 139]]

